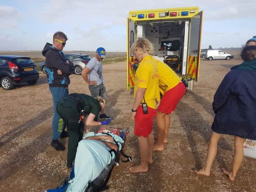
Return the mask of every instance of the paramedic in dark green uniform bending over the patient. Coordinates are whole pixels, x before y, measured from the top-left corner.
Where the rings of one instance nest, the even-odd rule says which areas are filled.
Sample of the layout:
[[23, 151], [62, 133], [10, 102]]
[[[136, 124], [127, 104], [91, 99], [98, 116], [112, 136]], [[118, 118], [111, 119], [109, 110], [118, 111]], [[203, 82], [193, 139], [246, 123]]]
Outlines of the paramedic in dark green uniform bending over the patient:
[[[72, 167], [75, 160], [78, 142], [84, 134], [84, 124], [99, 126], [110, 122], [111, 119], [103, 122], [94, 121], [106, 105], [106, 98], [93, 98], [86, 94], [76, 93], [69, 94], [58, 102], [57, 112], [66, 123], [68, 132], [67, 167]], [[86, 120], [83, 120], [84, 116], [87, 116]]]

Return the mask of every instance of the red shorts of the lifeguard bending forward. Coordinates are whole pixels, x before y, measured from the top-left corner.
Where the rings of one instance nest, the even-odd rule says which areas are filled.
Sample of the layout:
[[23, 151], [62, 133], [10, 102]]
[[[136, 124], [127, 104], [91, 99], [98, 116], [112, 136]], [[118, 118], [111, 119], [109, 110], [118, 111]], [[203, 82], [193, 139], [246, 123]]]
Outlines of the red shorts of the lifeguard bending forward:
[[157, 111], [166, 114], [171, 114], [171, 112], [175, 110], [178, 102], [185, 93], [186, 87], [183, 82], [180, 82], [172, 89], [166, 91], [166, 93], [163, 95], [161, 99]]

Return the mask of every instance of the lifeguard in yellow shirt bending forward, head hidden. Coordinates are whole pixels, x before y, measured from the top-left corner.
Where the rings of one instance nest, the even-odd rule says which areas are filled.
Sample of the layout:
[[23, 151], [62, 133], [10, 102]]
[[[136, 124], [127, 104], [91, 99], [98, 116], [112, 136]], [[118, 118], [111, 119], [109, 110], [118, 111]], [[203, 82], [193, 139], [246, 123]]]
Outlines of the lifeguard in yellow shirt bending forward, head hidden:
[[163, 95], [157, 108], [157, 143], [154, 151], [163, 151], [167, 143], [167, 134], [171, 121], [171, 112], [175, 110], [180, 99], [186, 93], [186, 87], [181, 78], [165, 63], [157, 60], [159, 74], [159, 90]]

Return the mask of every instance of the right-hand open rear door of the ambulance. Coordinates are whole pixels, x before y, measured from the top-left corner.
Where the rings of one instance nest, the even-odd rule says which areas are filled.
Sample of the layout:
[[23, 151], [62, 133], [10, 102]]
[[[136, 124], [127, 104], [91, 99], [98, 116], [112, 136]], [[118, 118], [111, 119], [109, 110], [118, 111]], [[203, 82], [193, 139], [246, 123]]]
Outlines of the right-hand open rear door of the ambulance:
[[199, 66], [200, 66], [200, 48], [201, 48], [201, 33], [202, 33], [202, 14], [199, 12], [190, 21], [190, 36], [188, 48], [188, 65], [187, 74], [193, 79], [198, 81]]

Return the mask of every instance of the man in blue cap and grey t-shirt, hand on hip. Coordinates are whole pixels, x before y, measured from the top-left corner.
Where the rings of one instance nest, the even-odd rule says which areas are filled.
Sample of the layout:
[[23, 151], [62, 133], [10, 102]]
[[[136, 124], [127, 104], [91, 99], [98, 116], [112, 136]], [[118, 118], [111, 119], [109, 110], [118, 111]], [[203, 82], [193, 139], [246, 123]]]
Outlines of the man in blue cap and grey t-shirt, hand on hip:
[[[106, 98], [106, 88], [102, 76], [102, 60], [106, 57], [106, 50], [103, 47], [99, 47], [96, 50], [96, 55], [92, 58], [86, 67], [83, 69], [81, 75], [85, 82], [89, 85], [91, 96], [96, 98], [98, 96]], [[89, 74], [89, 77], [88, 77]], [[100, 120], [109, 119], [111, 117], [104, 114], [102, 111], [99, 115]]]

